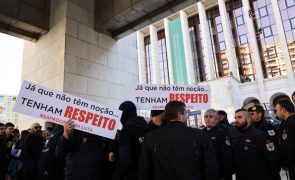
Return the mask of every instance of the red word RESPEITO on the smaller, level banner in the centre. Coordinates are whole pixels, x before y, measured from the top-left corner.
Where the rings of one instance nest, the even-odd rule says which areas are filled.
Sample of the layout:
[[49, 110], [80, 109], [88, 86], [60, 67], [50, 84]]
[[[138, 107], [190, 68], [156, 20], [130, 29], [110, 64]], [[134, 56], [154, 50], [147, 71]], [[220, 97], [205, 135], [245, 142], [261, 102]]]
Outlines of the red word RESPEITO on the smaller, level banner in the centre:
[[184, 103], [208, 103], [208, 94], [169, 94], [169, 101], [181, 101]]

